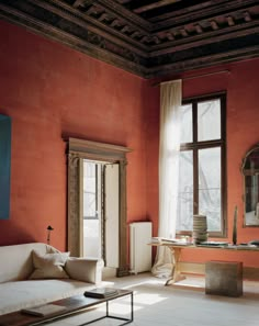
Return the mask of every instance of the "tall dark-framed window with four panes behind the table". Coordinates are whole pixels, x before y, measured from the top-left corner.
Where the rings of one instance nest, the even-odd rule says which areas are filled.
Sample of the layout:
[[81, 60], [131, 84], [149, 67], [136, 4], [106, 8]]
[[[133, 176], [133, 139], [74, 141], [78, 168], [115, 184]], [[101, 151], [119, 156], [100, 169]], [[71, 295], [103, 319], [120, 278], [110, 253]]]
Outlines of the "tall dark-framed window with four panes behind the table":
[[178, 234], [189, 234], [193, 214], [204, 214], [210, 236], [225, 235], [225, 102], [215, 94], [181, 108]]

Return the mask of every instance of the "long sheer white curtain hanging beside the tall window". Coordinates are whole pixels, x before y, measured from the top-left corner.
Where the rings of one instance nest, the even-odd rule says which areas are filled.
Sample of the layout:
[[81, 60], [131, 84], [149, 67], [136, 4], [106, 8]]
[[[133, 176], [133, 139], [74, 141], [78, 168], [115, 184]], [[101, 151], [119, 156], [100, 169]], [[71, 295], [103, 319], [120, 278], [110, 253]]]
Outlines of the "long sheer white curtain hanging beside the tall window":
[[[174, 80], [160, 85], [160, 144], [159, 144], [159, 223], [158, 236], [176, 237], [177, 196], [180, 149], [180, 106], [182, 82]], [[171, 274], [172, 259], [166, 247], [157, 248], [153, 274]]]

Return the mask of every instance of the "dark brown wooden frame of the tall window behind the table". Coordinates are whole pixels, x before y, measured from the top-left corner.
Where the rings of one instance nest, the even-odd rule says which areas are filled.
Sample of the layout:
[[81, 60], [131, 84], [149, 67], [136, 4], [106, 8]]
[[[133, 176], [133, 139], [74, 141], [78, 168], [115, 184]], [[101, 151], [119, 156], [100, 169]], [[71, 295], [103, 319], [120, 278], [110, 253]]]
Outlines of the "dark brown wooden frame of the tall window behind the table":
[[[221, 139], [198, 142], [198, 103], [203, 101], [216, 100], [221, 101]], [[210, 237], [226, 237], [227, 234], [227, 195], [226, 195], [226, 93], [218, 92], [209, 95], [188, 98], [182, 101], [182, 105], [192, 105], [192, 143], [181, 144], [180, 150], [193, 151], [193, 214], [199, 213], [199, 176], [198, 176], [198, 151], [199, 149], [221, 147], [221, 232], [210, 232]], [[178, 235], [191, 235], [190, 231], [178, 231]]]

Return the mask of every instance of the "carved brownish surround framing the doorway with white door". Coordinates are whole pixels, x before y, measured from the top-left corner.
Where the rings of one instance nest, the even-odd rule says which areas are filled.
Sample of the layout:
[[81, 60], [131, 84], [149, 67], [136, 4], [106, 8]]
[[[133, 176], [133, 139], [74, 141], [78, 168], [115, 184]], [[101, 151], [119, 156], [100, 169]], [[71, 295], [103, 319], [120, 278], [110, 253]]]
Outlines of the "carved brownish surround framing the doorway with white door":
[[81, 159], [95, 161], [116, 162], [120, 170], [120, 221], [119, 221], [119, 269], [117, 277], [128, 274], [127, 267], [127, 237], [126, 237], [126, 154], [132, 149], [69, 137], [67, 139], [68, 155], [68, 250], [71, 256], [80, 257], [81, 255], [81, 212], [80, 212], [80, 176]]

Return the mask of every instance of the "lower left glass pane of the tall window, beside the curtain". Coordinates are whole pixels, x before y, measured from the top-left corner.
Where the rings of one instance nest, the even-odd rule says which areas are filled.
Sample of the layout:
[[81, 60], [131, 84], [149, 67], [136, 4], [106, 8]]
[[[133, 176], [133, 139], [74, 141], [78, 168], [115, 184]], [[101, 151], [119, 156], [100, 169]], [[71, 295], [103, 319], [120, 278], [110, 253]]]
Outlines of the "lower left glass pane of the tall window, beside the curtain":
[[180, 153], [177, 231], [191, 231], [193, 216], [193, 155]]

